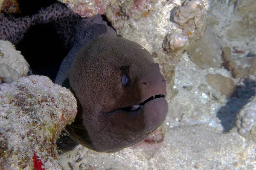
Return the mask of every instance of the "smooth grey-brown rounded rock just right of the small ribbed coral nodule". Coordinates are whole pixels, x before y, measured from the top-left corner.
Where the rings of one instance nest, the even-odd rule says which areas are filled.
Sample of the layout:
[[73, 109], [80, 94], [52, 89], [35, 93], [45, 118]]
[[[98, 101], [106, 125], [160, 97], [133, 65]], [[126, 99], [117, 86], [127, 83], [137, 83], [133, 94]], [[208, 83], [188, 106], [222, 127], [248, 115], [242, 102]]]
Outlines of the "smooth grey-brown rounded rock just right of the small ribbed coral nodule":
[[219, 68], [221, 66], [221, 46], [212, 30], [208, 28], [204, 37], [190, 46], [189, 58], [201, 68]]

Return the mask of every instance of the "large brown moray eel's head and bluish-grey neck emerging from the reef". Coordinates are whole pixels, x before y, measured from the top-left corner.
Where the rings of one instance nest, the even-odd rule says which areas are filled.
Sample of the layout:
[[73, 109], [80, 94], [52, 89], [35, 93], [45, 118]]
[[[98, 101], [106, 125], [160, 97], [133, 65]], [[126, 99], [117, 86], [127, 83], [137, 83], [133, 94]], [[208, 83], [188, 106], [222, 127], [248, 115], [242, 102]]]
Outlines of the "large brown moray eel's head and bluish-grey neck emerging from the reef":
[[[63, 6], [58, 11], [60, 8]], [[44, 9], [38, 14], [45, 19], [49, 13]], [[101, 16], [79, 18], [70, 30], [67, 43], [72, 48], [55, 80], [77, 99], [76, 119], [66, 127], [70, 137], [91, 150], [107, 153], [146, 139], [168, 112], [166, 80], [158, 63], [141, 45], [117, 37]]]

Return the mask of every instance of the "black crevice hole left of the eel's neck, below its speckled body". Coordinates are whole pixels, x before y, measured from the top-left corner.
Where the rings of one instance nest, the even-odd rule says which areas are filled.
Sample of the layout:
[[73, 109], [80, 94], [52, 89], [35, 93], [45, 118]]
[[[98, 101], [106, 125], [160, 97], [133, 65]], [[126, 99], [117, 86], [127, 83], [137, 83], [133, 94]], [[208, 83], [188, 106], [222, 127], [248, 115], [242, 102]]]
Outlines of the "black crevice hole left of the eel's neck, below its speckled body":
[[59, 39], [52, 24], [32, 26], [15, 45], [32, 68], [32, 74], [44, 75], [54, 82], [69, 48]]

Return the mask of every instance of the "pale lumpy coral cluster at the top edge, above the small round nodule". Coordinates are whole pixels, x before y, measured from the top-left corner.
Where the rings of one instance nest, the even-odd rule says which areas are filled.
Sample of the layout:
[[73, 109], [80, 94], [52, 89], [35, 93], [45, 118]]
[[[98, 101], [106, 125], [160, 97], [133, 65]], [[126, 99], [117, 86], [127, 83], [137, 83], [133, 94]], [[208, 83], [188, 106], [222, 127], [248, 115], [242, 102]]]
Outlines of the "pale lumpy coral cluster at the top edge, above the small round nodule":
[[206, 8], [202, 0], [186, 1], [175, 11], [174, 20], [181, 25], [186, 24], [190, 19], [194, 19], [195, 26], [200, 28], [206, 24]]

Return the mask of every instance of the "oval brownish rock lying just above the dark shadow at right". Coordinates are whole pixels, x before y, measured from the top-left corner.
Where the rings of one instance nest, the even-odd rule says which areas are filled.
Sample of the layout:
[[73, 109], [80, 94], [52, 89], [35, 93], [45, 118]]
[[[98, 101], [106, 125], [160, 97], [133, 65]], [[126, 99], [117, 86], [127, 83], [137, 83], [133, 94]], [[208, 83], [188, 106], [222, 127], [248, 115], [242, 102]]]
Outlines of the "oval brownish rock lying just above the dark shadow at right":
[[235, 83], [229, 77], [224, 77], [221, 74], [207, 74], [205, 78], [207, 83], [216, 91], [220, 91], [222, 95], [230, 97], [235, 90]]

